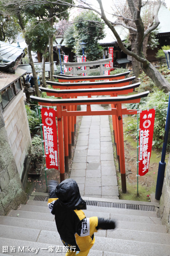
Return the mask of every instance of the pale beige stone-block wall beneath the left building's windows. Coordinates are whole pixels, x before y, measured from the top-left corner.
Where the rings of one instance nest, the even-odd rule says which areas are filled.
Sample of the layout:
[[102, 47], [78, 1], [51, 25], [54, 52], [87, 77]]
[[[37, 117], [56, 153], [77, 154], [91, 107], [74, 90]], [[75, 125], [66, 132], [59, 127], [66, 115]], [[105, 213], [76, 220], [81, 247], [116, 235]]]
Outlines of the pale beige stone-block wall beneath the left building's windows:
[[24, 160], [31, 146], [31, 136], [25, 111], [24, 94], [20, 91], [3, 112], [9, 144], [20, 178], [24, 171]]

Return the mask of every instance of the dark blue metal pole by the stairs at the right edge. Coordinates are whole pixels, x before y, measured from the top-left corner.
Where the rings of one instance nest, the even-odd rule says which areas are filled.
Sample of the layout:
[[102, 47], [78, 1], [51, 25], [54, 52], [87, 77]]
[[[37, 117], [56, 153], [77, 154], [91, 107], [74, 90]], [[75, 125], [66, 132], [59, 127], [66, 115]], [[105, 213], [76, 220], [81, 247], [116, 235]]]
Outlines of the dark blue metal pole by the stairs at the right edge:
[[162, 188], [164, 183], [164, 174], [165, 174], [165, 167], [166, 167], [165, 157], [166, 157], [166, 148], [167, 148], [167, 142], [168, 142], [169, 126], [170, 126], [170, 96], [169, 96], [169, 103], [168, 103], [162, 156], [161, 156], [161, 161], [159, 162], [159, 167], [158, 167], [157, 186], [155, 191], [155, 199], [157, 200], [160, 200], [161, 198]]

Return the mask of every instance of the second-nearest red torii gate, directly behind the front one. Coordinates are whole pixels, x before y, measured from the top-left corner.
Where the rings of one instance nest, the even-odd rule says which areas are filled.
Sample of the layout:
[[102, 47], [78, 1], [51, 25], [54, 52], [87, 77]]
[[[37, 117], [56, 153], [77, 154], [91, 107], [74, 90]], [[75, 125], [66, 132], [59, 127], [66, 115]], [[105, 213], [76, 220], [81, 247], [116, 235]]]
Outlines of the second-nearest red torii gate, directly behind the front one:
[[[114, 88], [90, 88], [90, 89], [73, 89], [73, 90], [55, 90], [50, 88], [39, 87], [41, 91], [47, 93], [47, 96], [55, 96], [62, 97], [63, 99], [68, 99], [70, 97], [77, 96], [99, 96], [99, 95], [110, 95], [117, 96], [118, 94], [128, 94], [133, 92], [136, 87], [139, 87], [140, 82], [132, 85], [126, 85], [123, 87], [114, 87]], [[112, 106], [113, 108], [114, 106]], [[69, 109], [71, 110], [71, 109]], [[120, 170], [120, 158], [119, 158], [119, 145], [118, 145], [118, 133], [117, 133], [117, 120], [115, 116], [112, 116], [112, 124], [114, 131], [114, 140], [117, 150], [117, 158]], [[65, 154], [65, 171], [68, 172], [68, 159], [71, 158], [71, 139], [72, 139], [72, 131], [71, 131], [71, 121], [67, 120], [67, 117], [64, 117], [64, 154]], [[68, 144], [68, 147], [67, 147]]]

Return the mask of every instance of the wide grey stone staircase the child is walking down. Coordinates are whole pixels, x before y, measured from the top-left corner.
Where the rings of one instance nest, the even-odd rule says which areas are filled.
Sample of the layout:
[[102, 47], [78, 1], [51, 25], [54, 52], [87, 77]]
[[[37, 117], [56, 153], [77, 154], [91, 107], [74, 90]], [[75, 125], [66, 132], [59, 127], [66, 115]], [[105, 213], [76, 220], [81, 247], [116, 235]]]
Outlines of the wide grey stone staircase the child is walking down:
[[[0, 256], [49, 256], [53, 249], [56, 255], [65, 255], [47, 199], [46, 193], [34, 192], [26, 205], [0, 216]], [[115, 230], [95, 233], [89, 256], [170, 256], [170, 234], [157, 217], [158, 203], [83, 199], [86, 217], [111, 218], [117, 223]]]

